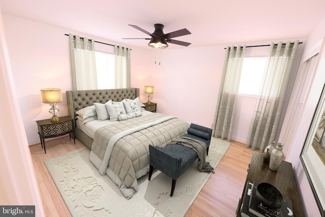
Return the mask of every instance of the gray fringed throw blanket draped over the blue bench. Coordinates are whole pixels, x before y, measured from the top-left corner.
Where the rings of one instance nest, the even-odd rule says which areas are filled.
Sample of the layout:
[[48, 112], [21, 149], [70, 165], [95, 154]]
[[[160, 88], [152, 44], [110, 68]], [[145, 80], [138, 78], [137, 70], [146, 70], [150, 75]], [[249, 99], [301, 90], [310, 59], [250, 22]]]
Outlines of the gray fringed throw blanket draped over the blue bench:
[[206, 152], [206, 144], [200, 140], [192, 139], [189, 137], [182, 136], [180, 138], [175, 138], [172, 140], [172, 143], [175, 142], [177, 144], [182, 144], [186, 147], [192, 148], [197, 152], [199, 160], [198, 160], [198, 169], [201, 172], [214, 173], [213, 168], [210, 166], [209, 162], [205, 162], [205, 152]]

